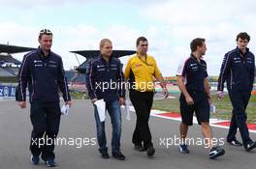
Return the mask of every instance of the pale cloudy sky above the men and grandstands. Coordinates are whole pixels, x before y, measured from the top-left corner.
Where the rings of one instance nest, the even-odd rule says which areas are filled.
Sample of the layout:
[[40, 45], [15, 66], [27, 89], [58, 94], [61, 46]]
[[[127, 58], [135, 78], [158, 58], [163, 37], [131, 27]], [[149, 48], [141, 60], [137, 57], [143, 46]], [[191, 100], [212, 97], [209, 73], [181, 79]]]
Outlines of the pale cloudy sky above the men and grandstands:
[[[194, 38], [207, 40], [204, 58], [209, 75], [218, 75], [223, 55], [236, 47], [238, 33], [251, 36], [252, 52], [256, 47], [253, 0], [0, 0], [0, 4], [0, 43], [37, 47], [39, 31], [48, 28], [53, 32], [52, 51], [62, 56], [66, 70], [79, 65], [69, 51], [98, 49], [104, 38], [112, 40], [113, 49], [136, 49], [136, 39], [146, 37], [148, 54], [164, 76], [176, 74]], [[20, 60], [22, 55], [15, 57]]]

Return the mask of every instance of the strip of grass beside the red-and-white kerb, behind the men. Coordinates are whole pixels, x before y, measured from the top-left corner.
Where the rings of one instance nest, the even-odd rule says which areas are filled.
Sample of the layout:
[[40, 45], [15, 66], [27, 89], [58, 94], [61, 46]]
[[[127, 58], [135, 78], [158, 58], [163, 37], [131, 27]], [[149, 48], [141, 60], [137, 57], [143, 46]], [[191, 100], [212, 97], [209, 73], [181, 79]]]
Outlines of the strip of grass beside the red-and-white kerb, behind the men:
[[[211, 114], [211, 118], [230, 120], [232, 115], [232, 104], [227, 95], [224, 99], [217, 99], [216, 96], [212, 96], [212, 103], [216, 106], [216, 113]], [[179, 113], [179, 101], [178, 98], [155, 100], [152, 108]], [[256, 124], [256, 96], [251, 96], [246, 108], [246, 113], [247, 122]]]

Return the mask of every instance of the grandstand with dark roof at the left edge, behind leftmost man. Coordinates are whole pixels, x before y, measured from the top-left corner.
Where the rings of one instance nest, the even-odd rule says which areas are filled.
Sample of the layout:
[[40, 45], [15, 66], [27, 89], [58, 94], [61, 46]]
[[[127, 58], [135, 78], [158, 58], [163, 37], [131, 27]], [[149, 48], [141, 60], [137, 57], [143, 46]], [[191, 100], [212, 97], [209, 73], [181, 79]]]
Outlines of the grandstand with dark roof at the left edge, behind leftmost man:
[[0, 44], [0, 83], [15, 83], [21, 62], [12, 54], [35, 50], [32, 47], [23, 47], [9, 44]]

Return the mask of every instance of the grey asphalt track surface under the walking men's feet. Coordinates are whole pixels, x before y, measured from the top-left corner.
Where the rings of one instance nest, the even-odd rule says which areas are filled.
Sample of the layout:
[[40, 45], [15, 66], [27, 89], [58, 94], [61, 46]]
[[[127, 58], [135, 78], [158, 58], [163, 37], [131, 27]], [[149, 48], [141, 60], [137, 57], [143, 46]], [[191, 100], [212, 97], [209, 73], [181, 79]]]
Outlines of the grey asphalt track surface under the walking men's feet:
[[[41, 160], [40, 164], [30, 164], [29, 138], [31, 124], [29, 119], [29, 106], [19, 109], [15, 101], [0, 101], [0, 169], [29, 169], [47, 168]], [[122, 112], [124, 113], [124, 112]], [[150, 128], [156, 154], [148, 158], [145, 153], [133, 149], [132, 133], [136, 117], [132, 113], [131, 121], [123, 116], [121, 149], [126, 155], [125, 161], [114, 158], [103, 159], [100, 157], [95, 145], [96, 127], [93, 115], [93, 106], [89, 100], [73, 100], [73, 107], [68, 116], [62, 117], [58, 137], [66, 138], [66, 145], [55, 148], [57, 168], [61, 169], [254, 169], [256, 151], [247, 153], [243, 148], [232, 147], [226, 143], [222, 146], [226, 155], [217, 159], [208, 159], [207, 149], [202, 146], [189, 146], [190, 154], [182, 155], [177, 152], [177, 147], [164, 145], [167, 138], [174, 139], [178, 136], [179, 122], [150, 117]], [[214, 137], [224, 139], [227, 129], [212, 127]], [[106, 134], [108, 137], [109, 154], [111, 155], [112, 125], [107, 115]], [[255, 140], [256, 134], [250, 133]], [[189, 138], [202, 138], [201, 127], [190, 127]], [[238, 134], [240, 139], [240, 134]], [[80, 140], [84, 143], [81, 145]], [[89, 139], [89, 140], [87, 140]]]

